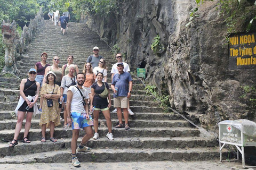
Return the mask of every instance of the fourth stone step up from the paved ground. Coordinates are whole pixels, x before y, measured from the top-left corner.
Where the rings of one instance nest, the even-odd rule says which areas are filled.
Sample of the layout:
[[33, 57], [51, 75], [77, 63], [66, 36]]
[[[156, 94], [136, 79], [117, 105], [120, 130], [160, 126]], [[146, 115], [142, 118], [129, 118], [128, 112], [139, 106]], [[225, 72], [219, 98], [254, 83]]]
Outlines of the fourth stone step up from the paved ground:
[[[112, 118], [112, 126], [118, 124], [118, 120]], [[6, 129], [15, 129], [17, 120], [3, 120], [0, 121], [0, 131], [1, 130], [6, 130]], [[22, 127], [24, 128], [26, 123], [26, 120], [23, 121]], [[100, 126], [99, 128], [106, 128], [107, 123], [106, 120], [99, 119]], [[61, 121], [61, 125], [58, 127], [61, 128], [63, 127], [64, 121]], [[136, 128], [161, 128], [161, 127], [166, 127], [166, 128], [175, 128], [175, 127], [186, 127], [186, 128], [191, 128], [190, 123], [182, 120], [164, 120], [164, 121], [148, 121], [148, 120], [130, 120], [129, 125], [131, 127], [136, 127]], [[33, 129], [41, 129], [41, 126], [39, 126], [39, 119], [34, 119], [31, 121], [31, 128]]]

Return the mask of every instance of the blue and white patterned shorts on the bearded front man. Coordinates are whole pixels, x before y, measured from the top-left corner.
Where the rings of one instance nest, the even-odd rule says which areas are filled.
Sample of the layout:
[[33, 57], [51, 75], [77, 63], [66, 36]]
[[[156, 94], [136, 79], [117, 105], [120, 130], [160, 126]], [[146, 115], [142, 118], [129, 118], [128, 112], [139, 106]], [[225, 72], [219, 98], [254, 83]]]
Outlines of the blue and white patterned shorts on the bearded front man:
[[93, 126], [93, 120], [91, 115], [90, 118], [87, 120], [86, 117], [84, 118], [82, 113], [78, 113], [78, 112], [72, 112], [70, 114], [71, 119], [72, 119], [72, 130], [74, 129], [84, 129], [85, 127], [88, 126]]

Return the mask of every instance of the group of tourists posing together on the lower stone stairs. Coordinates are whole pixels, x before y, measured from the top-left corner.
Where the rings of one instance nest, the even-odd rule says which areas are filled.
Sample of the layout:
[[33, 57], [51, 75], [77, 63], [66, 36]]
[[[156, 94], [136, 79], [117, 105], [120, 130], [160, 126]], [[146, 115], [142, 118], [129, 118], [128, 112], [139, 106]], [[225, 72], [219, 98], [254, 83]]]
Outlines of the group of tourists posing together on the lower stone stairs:
[[[76, 150], [91, 151], [91, 148], [85, 146], [86, 142], [91, 138], [99, 139], [98, 121], [100, 112], [107, 122], [108, 133], [106, 136], [109, 140], [114, 140], [109, 110], [111, 98], [107, 83], [106, 60], [99, 55], [99, 47], [94, 47], [93, 55], [89, 56], [84, 64], [83, 72], [79, 72], [78, 66], [73, 64], [74, 57], [72, 55], [67, 57], [67, 64], [62, 67], [59, 67], [60, 58], [58, 56], [53, 57], [52, 65], [46, 63], [47, 57], [45, 52], [42, 53], [41, 62], [37, 62], [35, 68], [29, 70], [29, 78], [22, 79], [20, 83], [20, 99], [15, 108], [18, 121], [14, 138], [9, 147], [18, 145], [18, 136], [26, 112], [25, 132], [22, 142], [30, 143], [28, 132], [31, 118], [33, 113], [38, 112], [41, 112], [39, 122], [42, 128], [41, 142], [46, 142], [46, 128], [50, 128], [50, 141], [57, 142], [57, 139], [54, 138], [54, 129], [55, 126], [61, 124], [60, 112], [63, 103], [63, 128], [66, 129], [67, 126], [71, 125], [73, 130], [71, 140], [72, 164], [79, 166]], [[119, 121], [115, 128], [129, 130], [129, 114], [134, 114], [129, 108], [132, 78], [129, 65], [122, 61], [122, 54], [117, 54], [116, 60], [117, 63], [111, 69], [111, 89], [114, 91], [114, 107]], [[38, 109], [36, 103], [39, 91], [41, 98]], [[125, 123], [123, 123], [122, 109]], [[91, 114], [93, 114], [93, 119]], [[94, 134], [92, 126], [94, 126]], [[77, 147], [77, 139], [81, 128], [85, 130], [86, 134]]]

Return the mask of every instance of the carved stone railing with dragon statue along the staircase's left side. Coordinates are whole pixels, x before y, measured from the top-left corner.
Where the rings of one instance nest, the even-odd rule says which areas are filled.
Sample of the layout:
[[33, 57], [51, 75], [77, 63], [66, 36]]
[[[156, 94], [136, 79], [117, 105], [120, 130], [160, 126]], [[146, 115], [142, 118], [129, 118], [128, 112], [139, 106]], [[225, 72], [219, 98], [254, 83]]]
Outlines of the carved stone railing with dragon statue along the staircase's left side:
[[43, 20], [43, 11], [42, 8], [40, 8], [35, 19], [30, 19], [28, 27], [26, 25], [23, 27], [21, 36], [19, 36], [19, 33], [16, 31], [17, 25], [15, 21], [12, 23], [9, 21], [5, 23], [5, 21], [3, 21], [2, 35], [3, 43], [6, 46], [4, 55], [4, 73], [20, 74], [20, 71], [17, 69], [16, 62], [19, 60], [20, 55], [26, 51], [27, 45], [35, 36], [39, 23], [42, 23]]

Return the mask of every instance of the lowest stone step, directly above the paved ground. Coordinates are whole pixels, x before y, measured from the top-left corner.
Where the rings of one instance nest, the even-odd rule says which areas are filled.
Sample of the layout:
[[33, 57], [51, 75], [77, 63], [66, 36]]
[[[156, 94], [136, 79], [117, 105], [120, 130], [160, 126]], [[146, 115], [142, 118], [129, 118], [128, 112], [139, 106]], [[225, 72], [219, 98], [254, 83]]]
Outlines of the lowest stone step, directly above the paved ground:
[[[42, 144], [43, 145], [43, 144]], [[26, 157], [6, 156], [0, 159], [1, 164], [32, 163], [71, 163], [70, 149], [28, 154]], [[228, 155], [223, 151], [223, 157]], [[218, 148], [191, 149], [93, 149], [91, 152], [78, 152], [80, 162], [131, 162], [143, 161], [204, 161], [218, 160]]]

